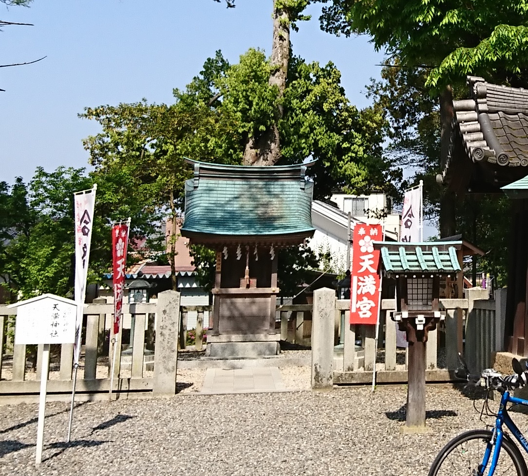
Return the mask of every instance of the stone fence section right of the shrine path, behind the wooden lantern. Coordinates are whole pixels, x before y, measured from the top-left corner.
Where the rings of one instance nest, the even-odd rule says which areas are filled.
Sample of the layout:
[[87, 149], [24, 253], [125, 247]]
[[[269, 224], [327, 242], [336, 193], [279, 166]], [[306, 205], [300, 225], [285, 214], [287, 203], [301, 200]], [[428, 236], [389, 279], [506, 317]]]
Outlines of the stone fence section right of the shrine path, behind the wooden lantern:
[[[459, 367], [458, 352], [466, 356], [472, 372], [490, 366], [491, 354], [503, 349], [505, 296], [506, 289], [499, 289], [496, 299], [491, 300], [487, 290], [473, 288], [466, 291], [466, 299], [440, 299], [440, 308], [446, 310], [447, 316], [440, 329], [429, 332], [428, 382], [454, 380], [453, 371]], [[407, 349], [397, 348], [396, 327], [390, 318], [395, 300], [382, 300], [378, 348], [374, 326], [344, 324], [349, 322], [349, 308], [350, 302], [337, 300], [332, 289], [314, 292], [313, 388], [368, 384], [374, 369], [378, 383], [407, 382]], [[336, 345], [339, 342], [343, 344]]]

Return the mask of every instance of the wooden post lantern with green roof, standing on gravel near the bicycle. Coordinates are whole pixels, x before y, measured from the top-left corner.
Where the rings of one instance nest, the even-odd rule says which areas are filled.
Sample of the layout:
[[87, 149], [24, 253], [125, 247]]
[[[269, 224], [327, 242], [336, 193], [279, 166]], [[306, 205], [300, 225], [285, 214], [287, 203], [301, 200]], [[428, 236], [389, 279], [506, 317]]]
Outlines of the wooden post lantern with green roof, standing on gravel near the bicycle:
[[446, 313], [439, 309], [440, 277], [461, 273], [457, 250], [461, 241], [375, 244], [381, 251], [385, 276], [396, 280], [396, 306], [392, 319], [407, 334], [409, 343], [407, 421], [402, 432], [425, 430], [426, 343]]

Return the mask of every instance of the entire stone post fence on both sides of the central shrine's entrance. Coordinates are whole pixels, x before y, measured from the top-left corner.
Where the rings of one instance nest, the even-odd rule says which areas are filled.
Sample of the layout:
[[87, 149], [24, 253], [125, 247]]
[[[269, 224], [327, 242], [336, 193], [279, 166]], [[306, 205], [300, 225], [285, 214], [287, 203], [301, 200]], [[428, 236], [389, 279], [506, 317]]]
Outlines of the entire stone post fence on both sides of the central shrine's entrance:
[[[444, 327], [429, 333], [428, 381], [452, 380], [460, 351], [464, 351], [473, 372], [489, 366], [491, 354], [502, 351], [505, 291], [498, 290], [495, 300], [487, 299], [487, 291], [479, 288], [469, 289], [466, 299], [440, 299], [447, 317]], [[382, 300], [376, 348], [374, 326], [345, 324], [350, 317], [350, 301], [337, 300], [332, 289], [319, 289], [314, 293], [313, 305], [278, 306], [281, 340], [312, 346], [315, 388], [325, 388], [328, 382], [368, 384], [374, 368], [379, 383], [404, 383], [407, 382], [406, 350], [396, 346], [396, 328], [390, 319], [394, 305], [393, 299]], [[125, 304], [124, 313], [133, 316], [132, 328], [128, 343], [121, 342], [122, 333], [118, 336], [112, 392], [120, 397], [174, 395], [178, 347], [185, 348], [186, 315], [191, 311], [198, 314], [195, 348], [200, 350], [204, 311], [209, 309], [209, 306], [180, 307], [180, 293], [174, 291], [159, 293], [157, 303]], [[85, 306], [77, 382], [79, 400], [92, 400], [98, 394], [103, 398], [102, 394], [109, 391], [114, 336], [111, 329], [110, 335], [105, 335], [105, 320], [113, 311], [112, 304], [102, 302]], [[36, 401], [42, 346], [32, 356], [36, 370], [32, 372], [26, 362], [29, 348], [13, 345], [14, 318], [8, 317], [13, 315], [16, 308], [0, 305], [0, 342], [4, 343], [0, 358], [0, 403], [23, 396]], [[69, 399], [72, 358], [71, 344], [52, 346], [48, 384], [52, 399]], [[25, 399], [28, 400], [31, 399]]]

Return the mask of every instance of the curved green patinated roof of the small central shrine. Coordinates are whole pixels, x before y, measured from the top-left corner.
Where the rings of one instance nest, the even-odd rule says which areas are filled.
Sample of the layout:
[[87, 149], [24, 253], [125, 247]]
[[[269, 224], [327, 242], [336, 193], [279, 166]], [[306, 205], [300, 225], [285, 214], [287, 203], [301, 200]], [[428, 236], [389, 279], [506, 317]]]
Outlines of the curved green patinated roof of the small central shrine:
[[314, 231], [306, 166], [225, 166], [187, 160], [182, 235], [291, 235]]

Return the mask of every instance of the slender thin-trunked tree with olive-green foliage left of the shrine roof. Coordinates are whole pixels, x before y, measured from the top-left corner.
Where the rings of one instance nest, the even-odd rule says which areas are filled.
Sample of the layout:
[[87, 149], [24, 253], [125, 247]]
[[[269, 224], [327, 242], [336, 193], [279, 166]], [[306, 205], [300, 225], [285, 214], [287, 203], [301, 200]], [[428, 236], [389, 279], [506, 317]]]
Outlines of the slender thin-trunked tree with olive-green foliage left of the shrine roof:
[[[96, 167], [95, 180], [120, 176], [130, 180], [130, 192], [148, 203], [151, 212], [175, 222], [182, 209], [184, 183], [191, 170], [185, 156], [220, 157], [226, 144], [216, 138], [219, 130], [230, 134], [232, 123], [203, 106], [185, 108], [179, 104], [134, 104], [86, 108], [81, 118], [98, 121], [102, 132], [84, 140], [90, 163]], [[174, 264], [176, 231], [168, 238], [168, 262], [176, 289]]]

